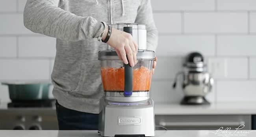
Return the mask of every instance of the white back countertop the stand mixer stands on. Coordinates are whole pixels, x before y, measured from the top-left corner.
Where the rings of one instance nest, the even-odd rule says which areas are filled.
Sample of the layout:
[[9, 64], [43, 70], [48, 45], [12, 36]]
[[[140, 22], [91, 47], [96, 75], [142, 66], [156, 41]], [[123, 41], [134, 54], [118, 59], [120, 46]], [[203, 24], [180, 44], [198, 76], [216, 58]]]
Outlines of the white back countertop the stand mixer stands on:
[[156, 115], [253, 115], [256, 102], [212, 103], [211, 105], [155, 104]]

